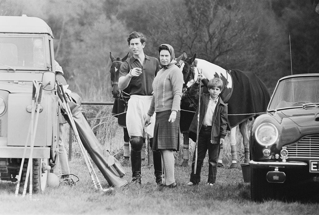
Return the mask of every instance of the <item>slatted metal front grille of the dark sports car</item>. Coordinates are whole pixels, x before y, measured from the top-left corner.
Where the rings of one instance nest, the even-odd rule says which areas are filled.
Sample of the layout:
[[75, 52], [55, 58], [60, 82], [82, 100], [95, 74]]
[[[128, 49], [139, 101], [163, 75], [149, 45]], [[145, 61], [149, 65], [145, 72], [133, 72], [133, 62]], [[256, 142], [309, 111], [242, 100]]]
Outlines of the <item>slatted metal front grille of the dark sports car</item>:
[[289, 158], [319, 159], [319, 136], [305, 137], [299, 143], [287, 146]]

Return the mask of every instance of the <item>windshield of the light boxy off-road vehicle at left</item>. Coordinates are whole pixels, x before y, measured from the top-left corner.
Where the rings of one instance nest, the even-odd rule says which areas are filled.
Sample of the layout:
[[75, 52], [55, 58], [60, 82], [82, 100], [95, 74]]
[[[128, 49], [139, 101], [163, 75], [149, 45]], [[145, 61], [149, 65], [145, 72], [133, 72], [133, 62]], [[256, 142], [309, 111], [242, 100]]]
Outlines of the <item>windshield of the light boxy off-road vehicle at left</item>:
[[41, 36], [0, 36], [0, 69], [48, 70], [50, 52], [44, 41]]

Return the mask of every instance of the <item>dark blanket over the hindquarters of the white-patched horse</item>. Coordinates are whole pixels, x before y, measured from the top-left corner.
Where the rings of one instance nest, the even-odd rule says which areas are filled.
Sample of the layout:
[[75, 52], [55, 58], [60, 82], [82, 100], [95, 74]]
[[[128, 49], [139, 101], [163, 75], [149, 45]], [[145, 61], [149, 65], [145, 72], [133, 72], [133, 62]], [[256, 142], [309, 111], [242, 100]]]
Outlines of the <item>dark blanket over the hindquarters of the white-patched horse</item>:
[[266, 85], [252, 71], [230, 70], [233, 94], [228, 101], [228, 122], [233, 128], [267, 110], [270, 94]]

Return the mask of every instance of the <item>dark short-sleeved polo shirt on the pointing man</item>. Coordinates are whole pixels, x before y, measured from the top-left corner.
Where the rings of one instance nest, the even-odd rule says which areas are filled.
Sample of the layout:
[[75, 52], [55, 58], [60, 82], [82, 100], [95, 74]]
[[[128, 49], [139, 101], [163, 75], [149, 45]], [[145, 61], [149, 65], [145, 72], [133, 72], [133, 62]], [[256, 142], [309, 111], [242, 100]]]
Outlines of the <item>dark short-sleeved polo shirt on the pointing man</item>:
[[131, 95], [151, 96], [153, 92], [152, 83], [155, 75], [159, 71], [159, 61], [155, 57], [145, 55], [143, 66], [139, 60], [131, 56], [124, 61], [120, 68], [119, 77], [126, 76], [131, 69], [138, 67], [142, 69], [142, 74], [138, 77], [132, 77], [129, 88]]

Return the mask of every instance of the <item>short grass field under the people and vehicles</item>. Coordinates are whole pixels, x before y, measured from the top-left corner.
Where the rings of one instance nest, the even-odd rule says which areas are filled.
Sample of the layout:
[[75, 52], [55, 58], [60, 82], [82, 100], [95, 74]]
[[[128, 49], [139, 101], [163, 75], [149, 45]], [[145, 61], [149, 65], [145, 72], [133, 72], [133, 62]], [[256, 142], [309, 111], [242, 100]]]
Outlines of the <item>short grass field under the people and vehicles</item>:
[[[78, 175], [78, 185], [48, 187], [43, 194], [14, 196], [16, 183], [0, 182], [1, 214], [318, 214], [314, 203], [285, 203], [250, 200], [250, 184], [243, 182], [241, 169], [218, 168], [215, 186], [207, 186], [208, 167], [204, 164], [202, 183], [189, 182], [190, 167], [175, 166], [178, 187], [156, 189], [152, 166], [142, 167], [142, 186], [130, 186], [131, 170], [124, 167], [129, 185], [115, 188], [113, 195], [97, 192], [82, 158], [70, 161], [73, 174]], [[98, 172], [98, 169], [96, 168]], [[108, 183], [99, 174], [102, 186]]]

